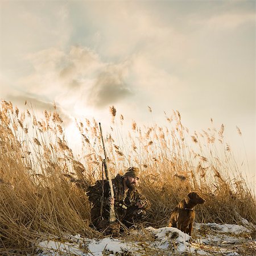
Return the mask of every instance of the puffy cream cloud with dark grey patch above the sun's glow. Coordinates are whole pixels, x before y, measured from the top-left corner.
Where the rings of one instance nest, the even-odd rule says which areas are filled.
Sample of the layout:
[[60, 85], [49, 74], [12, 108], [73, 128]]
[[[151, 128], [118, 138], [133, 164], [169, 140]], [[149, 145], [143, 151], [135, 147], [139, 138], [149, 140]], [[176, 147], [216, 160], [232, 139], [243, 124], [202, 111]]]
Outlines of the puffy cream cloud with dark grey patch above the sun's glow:
[[56, 101], [72, 113], [77, 101], [103, 108], [133, 96], [129, 85], [130, 61], [108, 63], [88, 47], [68, 52], [49, 48], [27, 56], [34, 71], [20, 79], [26, 95]]

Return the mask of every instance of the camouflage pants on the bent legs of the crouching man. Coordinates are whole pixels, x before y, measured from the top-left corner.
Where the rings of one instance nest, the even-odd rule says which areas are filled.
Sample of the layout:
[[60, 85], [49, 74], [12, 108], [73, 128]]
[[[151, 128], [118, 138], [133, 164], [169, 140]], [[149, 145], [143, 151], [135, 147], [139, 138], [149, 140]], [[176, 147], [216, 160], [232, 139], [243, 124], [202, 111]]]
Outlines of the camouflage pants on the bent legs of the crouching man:
[[129, 207], [127, 210], [121, 210], [118, 214], [116, 211], [117, 220], [114, 222], [109, 222], [109, 214], [104, 214], [100, 216], [100, 210], [92, 208], [91, 217], [92, 224], [104, 234], [112, 234], [113, 236], [118, 236], [120, 229], [129, 229], [132, 225], [143, 220], [143, 217], [146, 214], [146, 211], [139, 209], [137, 206]]

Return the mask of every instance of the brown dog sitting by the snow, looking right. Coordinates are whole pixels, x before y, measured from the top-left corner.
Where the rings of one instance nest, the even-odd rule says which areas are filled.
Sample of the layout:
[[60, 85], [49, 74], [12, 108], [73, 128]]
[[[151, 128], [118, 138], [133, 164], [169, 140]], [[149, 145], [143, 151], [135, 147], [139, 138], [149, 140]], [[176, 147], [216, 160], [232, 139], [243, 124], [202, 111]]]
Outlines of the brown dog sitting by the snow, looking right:
[[180, 201], [172, 211], [168, 226], [177, 228], [191, 236], [193, 221], [196, 217], [194, 207], [204, 202], [205, 199], [203, 199], [198, 192], [188, 193], [187, 197]]

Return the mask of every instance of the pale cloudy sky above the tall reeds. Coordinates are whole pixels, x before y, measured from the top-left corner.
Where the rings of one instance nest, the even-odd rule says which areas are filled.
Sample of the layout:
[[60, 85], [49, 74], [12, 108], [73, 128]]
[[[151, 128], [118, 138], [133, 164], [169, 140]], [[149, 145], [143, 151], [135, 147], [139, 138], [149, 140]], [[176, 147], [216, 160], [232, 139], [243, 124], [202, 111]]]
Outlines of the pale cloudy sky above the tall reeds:
[[235, 148], [240, 127], [254, 173], [254, 1], [1, 1], [0, 36], [1, 99], [55, 101], [67, 125], [112, 105], [141, 123], [176, 109], [191, 130], [213, 118]]

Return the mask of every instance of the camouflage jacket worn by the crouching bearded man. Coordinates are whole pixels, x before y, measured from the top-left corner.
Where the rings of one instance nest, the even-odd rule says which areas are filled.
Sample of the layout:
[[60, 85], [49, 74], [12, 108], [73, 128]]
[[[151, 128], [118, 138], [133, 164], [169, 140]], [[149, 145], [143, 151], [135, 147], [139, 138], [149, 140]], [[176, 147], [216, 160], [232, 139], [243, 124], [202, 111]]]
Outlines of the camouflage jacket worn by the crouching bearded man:
[[[118, 174], [114, 179], [112, 179], [112, 184], [115, 199], [115, 214], [117, 214], [117, 217], [120, 220], [123, 216], [125, 216], [126, 210], [128, 210], [130, 207], [134, 207], [138, 201], [144, 205], [144, 207], [141, 209], [147, 210], [150, 207], [149, 201], [138, 191], [138, 189], [135, 188], [133, 191], [130, 191], [129, 189], [127, 193], [125, 193], [121, 175]], [[102, 187], [104, 189], [103, 193]], [[94, 213], [94, 215], [96, 214], [104, 218], [109, 216], [110, 189], [107, 180], [104, 180], [103, 182], [102, 180], [96, 181], [95, 185], [88, 188], [86, 195], [88, 195], [88, 199], [92, 203], [92, 213]], [[101, 202], [103, 202], [103, 207], [102, 212], [100, 213]]]

